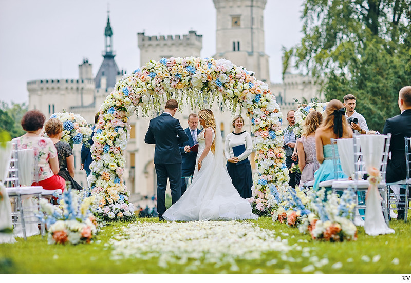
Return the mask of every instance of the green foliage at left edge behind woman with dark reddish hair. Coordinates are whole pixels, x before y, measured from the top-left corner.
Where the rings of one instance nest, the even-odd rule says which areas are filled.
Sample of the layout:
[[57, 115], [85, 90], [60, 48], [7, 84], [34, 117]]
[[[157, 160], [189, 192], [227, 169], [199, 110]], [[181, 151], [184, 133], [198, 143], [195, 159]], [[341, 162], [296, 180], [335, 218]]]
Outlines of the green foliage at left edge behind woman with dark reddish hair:
[[5, 102], [0, 102], [0, 130], [8, 132], [11, 138], [23, 135], [25, 132], [20, 122], [27, 110], [26, 103], [12, 102], [9, 106]]

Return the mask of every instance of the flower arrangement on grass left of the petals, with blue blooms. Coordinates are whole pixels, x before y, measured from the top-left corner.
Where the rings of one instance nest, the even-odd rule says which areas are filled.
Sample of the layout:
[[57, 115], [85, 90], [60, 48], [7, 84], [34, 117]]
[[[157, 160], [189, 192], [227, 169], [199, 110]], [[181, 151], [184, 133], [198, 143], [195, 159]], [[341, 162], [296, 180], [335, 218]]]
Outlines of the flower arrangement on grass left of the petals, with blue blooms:
[[85, 190], [69, 188], [63, 192], [58, 206], [53, 206], [47, 199], [40, 200], [42, 212], [46, 213], [48, 244], [88, 243], [97, 235], [101, 224], [90, 211], [92, 198], [86, 197]]

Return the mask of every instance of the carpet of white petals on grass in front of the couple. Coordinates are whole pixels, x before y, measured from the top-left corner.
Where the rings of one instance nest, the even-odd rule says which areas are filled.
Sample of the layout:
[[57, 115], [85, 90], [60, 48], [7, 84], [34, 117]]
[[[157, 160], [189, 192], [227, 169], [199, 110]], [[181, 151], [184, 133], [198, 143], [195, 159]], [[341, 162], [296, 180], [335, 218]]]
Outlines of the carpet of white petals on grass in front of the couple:
[[[159, 265], [168, 263], [193, 265], [200, 261], [231, 264], [235, 260], [260, 259], [263, 252], [278, 252], [287, 256], [295, 246], [279, 233], [257, 225], [238, 221], [195, 221], [189, 223], [133, 223], [122, 227], [110, 240], [113, 257], [149, 259], [159, 257]], [[264, 247], [264, 249], [261, 249]], [[297, 249], [299, 250], [299, 249]]]

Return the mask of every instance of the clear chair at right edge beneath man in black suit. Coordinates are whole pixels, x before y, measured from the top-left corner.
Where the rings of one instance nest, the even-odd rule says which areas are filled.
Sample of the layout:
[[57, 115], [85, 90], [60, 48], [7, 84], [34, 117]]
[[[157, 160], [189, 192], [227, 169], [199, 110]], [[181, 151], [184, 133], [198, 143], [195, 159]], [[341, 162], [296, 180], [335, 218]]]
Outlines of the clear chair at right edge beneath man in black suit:
[[[395, 183], [387, 183], [387, 207], [388, 210], [405, 210], [404, 211], [404, 222], [407, 222], [408, 218], [408, 209], [409, 209], [409, 189], [411, 187], [411, 137], [405, 137], [405, 163], [406, 163], [406, 179], [401, 180]], [[390, 187], [393, 187], [390, 190]], [[400, 190], [394, 190], [394, 186], [405, 187], [405, 192], [403, 194], [400, 193]], [[390, 192], [392, 191], [392, 192]], [[401, 205], [401, 208], [398, 206]]]

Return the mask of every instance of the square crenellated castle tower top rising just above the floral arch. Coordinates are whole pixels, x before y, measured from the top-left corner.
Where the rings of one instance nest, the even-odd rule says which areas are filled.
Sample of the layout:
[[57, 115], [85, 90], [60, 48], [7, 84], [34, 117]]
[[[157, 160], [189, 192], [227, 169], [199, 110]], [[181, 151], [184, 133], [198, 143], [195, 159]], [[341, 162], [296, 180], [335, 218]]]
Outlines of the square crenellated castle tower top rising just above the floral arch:
[[202, 48], [202, 35], [194, 30], [189, 34], [180, 35], [160, 35], [146, 36], [144, 32], [137, 33], [138, 48], [140, 49], [140, 65], [144, 65], [150, 60], [160, 60], [170, 57], [200, 57]]

